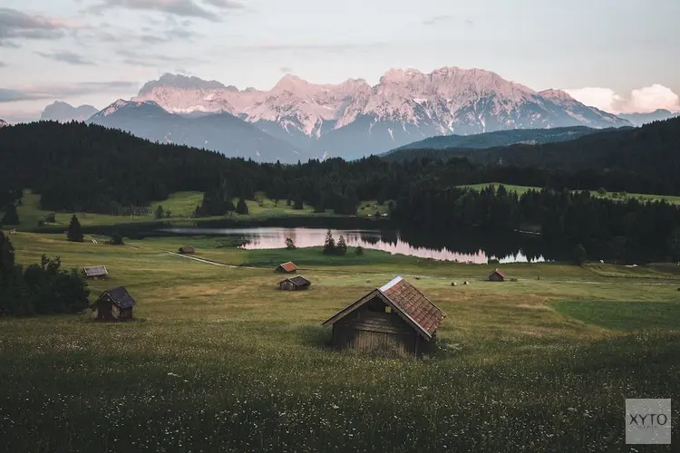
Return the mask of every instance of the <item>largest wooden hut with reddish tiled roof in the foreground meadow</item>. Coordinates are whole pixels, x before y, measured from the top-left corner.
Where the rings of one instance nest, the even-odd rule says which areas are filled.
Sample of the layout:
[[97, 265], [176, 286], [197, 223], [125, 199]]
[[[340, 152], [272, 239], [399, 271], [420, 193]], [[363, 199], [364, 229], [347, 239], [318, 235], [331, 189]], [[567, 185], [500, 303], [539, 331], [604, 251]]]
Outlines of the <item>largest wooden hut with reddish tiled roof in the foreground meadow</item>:
[[364, 295], [322, 325], [333, 325], [336, 349], [382, 350], [420, 357], [446, 316], [401, 276]]

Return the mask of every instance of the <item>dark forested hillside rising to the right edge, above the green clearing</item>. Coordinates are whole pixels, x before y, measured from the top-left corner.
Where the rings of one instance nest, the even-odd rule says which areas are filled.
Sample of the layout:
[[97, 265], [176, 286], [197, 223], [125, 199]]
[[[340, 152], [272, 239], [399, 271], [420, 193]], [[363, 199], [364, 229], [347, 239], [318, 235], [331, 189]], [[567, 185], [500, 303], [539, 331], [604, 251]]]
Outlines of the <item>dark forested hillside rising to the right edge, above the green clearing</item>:
[[641, 128], [605, 130], [557, 143], [516, 144], [491, 149], [399, 150], [390, 160], [450, 159], [547, 169], [612, 169], [638, 175], [658, 172], [661, 178], [680, 175], [680, 118], [656, 121]]

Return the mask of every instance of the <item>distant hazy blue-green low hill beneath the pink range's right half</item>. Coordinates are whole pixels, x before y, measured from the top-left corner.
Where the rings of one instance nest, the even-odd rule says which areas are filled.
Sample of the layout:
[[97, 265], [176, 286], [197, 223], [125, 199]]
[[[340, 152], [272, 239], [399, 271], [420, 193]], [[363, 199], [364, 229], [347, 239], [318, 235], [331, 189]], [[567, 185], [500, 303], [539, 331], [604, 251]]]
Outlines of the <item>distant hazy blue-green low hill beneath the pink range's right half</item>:
[[[630, 128], [627, 128], [630, 129]], [[616, 130], [616, 129], [607, 129]], [[539, 144], [556, 141], [576, 140], [602, 130], [588, 128], [586, 126], [574, 126], [570, 128], [554, 129], [513, 129], [497, 130], [474, 135], [441, 135], [429, 139], [415, 141], [398, 149], [386, 152], [383, 156], [389, 156], [395, 152], [411, 149], [452, 149], [470, 148], [487, 149], [500, 146], [509, 146], [517, 143]], [[405, 155], [405, 152], [403, 153]]]

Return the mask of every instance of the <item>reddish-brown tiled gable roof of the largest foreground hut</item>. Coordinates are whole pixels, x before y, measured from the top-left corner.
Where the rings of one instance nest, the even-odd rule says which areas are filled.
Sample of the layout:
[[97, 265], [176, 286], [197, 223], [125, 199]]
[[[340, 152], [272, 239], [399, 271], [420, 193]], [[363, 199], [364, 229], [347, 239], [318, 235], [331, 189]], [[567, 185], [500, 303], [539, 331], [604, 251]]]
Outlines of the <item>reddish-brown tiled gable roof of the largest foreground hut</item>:
[[387, 284], [364, 295], [354, 304], [345, 308], [340, 313], [326, 320], [323, 325], [335, 323], [355, 309], [374, 299], [381, 298], [385, 304], [393, 307], [403, 319], [427, 339], [431, 339], [446, 313], [432, 303], [423, 293], [415, 289], [413, 284], [405, 281], [401, 276], [394, 278]]

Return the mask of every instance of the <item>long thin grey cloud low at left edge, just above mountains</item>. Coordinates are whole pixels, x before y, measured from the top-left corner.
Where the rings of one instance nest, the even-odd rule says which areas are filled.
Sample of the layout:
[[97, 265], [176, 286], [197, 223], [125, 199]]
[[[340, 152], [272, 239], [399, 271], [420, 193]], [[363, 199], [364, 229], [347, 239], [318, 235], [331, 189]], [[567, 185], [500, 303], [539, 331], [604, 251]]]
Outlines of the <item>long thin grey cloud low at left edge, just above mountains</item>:
[[99, 92], [129, 92], [137, 82], [79, 82], [69, 85], [25, 85], [17, 88], [0, 88], [0, 102], [64, 99]]

